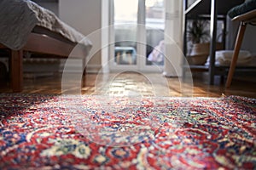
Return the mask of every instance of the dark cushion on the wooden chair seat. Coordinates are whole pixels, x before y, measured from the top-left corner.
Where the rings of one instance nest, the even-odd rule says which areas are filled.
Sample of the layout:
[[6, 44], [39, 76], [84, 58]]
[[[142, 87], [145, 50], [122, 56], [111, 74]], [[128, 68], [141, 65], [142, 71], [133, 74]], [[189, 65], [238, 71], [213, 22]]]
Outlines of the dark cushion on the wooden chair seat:
[[237, 5], [234, 8], [231, 8], [228, 12], [230, 18], [234, 18], [240, 14], [245, 14], [256, 8], [256, 0], [248, 0], [245, 3], [241, 3], [241, 5]]

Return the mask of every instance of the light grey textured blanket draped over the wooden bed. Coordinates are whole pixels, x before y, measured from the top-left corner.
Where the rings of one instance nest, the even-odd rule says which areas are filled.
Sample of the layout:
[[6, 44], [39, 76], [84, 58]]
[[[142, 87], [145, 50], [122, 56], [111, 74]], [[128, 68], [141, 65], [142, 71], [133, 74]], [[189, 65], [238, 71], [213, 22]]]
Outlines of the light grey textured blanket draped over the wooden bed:
[[28, 0], [0, 1], [0, 43], [15, 50], [22, 48], [34, 26], [43, 26], [71, 42], [83, 44], [87, 52], [92, 46], [83, 34], [37, 3]]

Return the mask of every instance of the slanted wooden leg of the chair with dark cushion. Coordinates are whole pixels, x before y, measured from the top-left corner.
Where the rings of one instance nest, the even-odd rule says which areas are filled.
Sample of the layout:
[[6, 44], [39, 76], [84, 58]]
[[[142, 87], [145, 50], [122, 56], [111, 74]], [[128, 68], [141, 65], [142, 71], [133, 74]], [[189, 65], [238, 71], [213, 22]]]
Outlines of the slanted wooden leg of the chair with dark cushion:
[[230, 64], [230, 71], [229, 71], [229, 75], [228, 75], [227, 82], [226, 82], [226, 88], [230, 88], [230, 84], [231, 84], [231, 81], [232, 81], [232, 78], [234, 75], [234, 71], [236, 68], [236, 61], [237, 61], [238, 54], [239, 54], [239, 51], [241, 48], [242, 38], [244, 36], [246, 27], [247, 27], [247, 24], [241, 21], [240, 26], [239, 26], [239, 31], [238, 31], [238, 34], [236, 37], [236, 45], [235, 45], [235, 49], [234, 49], [234, 54], [232, 56], [232, 61]]

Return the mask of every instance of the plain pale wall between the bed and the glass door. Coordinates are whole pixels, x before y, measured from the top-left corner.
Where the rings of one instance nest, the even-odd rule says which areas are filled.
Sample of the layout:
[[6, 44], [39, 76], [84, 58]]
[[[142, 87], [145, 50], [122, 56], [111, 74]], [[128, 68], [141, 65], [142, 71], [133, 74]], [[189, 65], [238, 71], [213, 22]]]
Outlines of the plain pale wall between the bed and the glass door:
[[[60, 19], [85, 36], [90, 35], [93, 49], [101, 49], [101, 34], [97, 31], [102, 26], [101, 0], [60, 0]], [[97, 33], [93, 33], [97, 31]], [[91, 36], [92, 35], [92, 36]], [[101, 65], [101, 51], [90, 59], [90, 65]]]

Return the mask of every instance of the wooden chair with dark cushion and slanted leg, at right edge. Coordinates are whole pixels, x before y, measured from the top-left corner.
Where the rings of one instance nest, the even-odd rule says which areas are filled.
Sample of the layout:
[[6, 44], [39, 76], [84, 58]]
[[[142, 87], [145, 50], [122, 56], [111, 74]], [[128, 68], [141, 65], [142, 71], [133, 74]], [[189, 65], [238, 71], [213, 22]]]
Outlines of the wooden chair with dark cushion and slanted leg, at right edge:
[[230, 71], [226, 81], [226, 88], [230, 88], [230, 84], [236, 68], [236, 61], [241, 48], [241, 42], [246, 31], [247, 24], [256, 23], [256, 0], [249, 0], [241, 5], [231, 8], [229, 11], [230, 18], [232, 20], [239, 20], [240, 26], [236, 36], [236, 44], [234, 48], [234, 54], [230, 63]]

